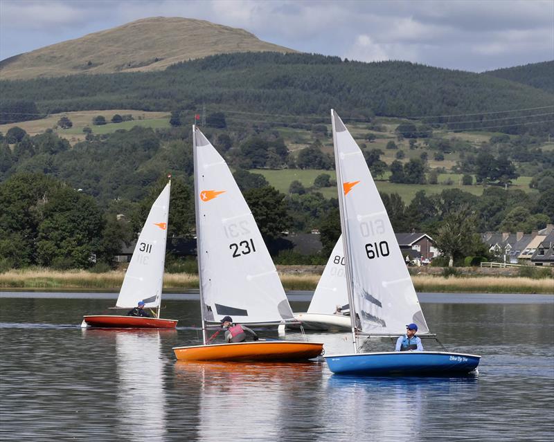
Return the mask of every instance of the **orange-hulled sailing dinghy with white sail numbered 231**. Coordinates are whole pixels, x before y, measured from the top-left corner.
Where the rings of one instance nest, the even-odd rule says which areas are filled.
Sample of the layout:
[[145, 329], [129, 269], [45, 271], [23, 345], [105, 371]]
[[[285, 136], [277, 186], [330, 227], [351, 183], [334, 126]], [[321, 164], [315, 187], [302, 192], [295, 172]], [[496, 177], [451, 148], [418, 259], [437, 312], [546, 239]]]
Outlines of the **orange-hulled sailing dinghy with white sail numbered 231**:
[[226, 315], [242, 324], [294, 321], [256, 221], [227, 167], [201, 131], [193, 127], [195, 207], [203, 345], [174, 347], [179, 360], [307, 360], [318, 342], [258, 340], [208, 344], [208, 323]]

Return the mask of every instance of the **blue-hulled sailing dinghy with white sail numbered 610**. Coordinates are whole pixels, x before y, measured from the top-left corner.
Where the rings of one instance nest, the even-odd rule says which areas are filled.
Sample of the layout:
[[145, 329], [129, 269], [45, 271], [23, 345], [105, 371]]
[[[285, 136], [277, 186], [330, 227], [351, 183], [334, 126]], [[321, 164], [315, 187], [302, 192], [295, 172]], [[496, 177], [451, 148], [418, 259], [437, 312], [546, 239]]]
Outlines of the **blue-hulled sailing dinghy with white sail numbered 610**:
[[354, 138], [331, 111], [341, 230], [354, 353], [325, 355], [336, 374], [466, 374], [481, 356], [447, 351], [359, 353], [358, 336], [404, 335], [406, 324], [429, 333], [391, 221]]

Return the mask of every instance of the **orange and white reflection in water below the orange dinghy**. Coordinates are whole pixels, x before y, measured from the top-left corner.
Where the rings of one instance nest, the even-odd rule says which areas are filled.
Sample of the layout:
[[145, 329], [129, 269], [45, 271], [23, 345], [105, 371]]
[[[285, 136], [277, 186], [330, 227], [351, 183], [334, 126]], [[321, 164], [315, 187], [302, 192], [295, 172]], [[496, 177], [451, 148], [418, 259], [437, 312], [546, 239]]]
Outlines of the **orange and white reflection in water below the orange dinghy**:
[[[197, 440], [293, 440], [294, 429], [321, 426], [321, 362], [175, 363], [179, 389], [199, 385]], [[313, 437], [310, 428], [307, 437]], [[296, 432], [296, 437], [298, 432]], [[307, 439], [310, 440], [310, 439]]]

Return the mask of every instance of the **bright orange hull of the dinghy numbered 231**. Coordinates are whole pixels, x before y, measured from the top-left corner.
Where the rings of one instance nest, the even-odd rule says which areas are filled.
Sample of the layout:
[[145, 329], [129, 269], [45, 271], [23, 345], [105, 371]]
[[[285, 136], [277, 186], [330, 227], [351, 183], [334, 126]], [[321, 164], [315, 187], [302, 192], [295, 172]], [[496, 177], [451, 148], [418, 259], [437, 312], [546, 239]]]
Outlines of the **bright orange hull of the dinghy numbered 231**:
[[316, 358], [323, 352], [319, 342], [255, 341], [235, 344], [173, 347], [178, 360], [292, 361]]

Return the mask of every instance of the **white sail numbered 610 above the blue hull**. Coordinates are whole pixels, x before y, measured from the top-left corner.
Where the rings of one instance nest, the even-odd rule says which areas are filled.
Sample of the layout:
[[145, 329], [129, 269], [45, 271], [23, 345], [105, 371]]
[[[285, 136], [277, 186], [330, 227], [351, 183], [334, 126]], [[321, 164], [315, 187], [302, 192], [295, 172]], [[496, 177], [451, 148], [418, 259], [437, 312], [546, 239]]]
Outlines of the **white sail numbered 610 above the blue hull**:
[[[341, 223], [350, 266], [354, 306], [366, 333], [402, 334], [406, 324], [429, 329], [402, 259], [391, 221], [364, 155], [337, 113], [331, 111]], [[339, 178], [340, 177], [340, 178]], [[340, 182], [339, 182], [340, 181]], [[356, 316], [355, 316], [356, 317]]]

